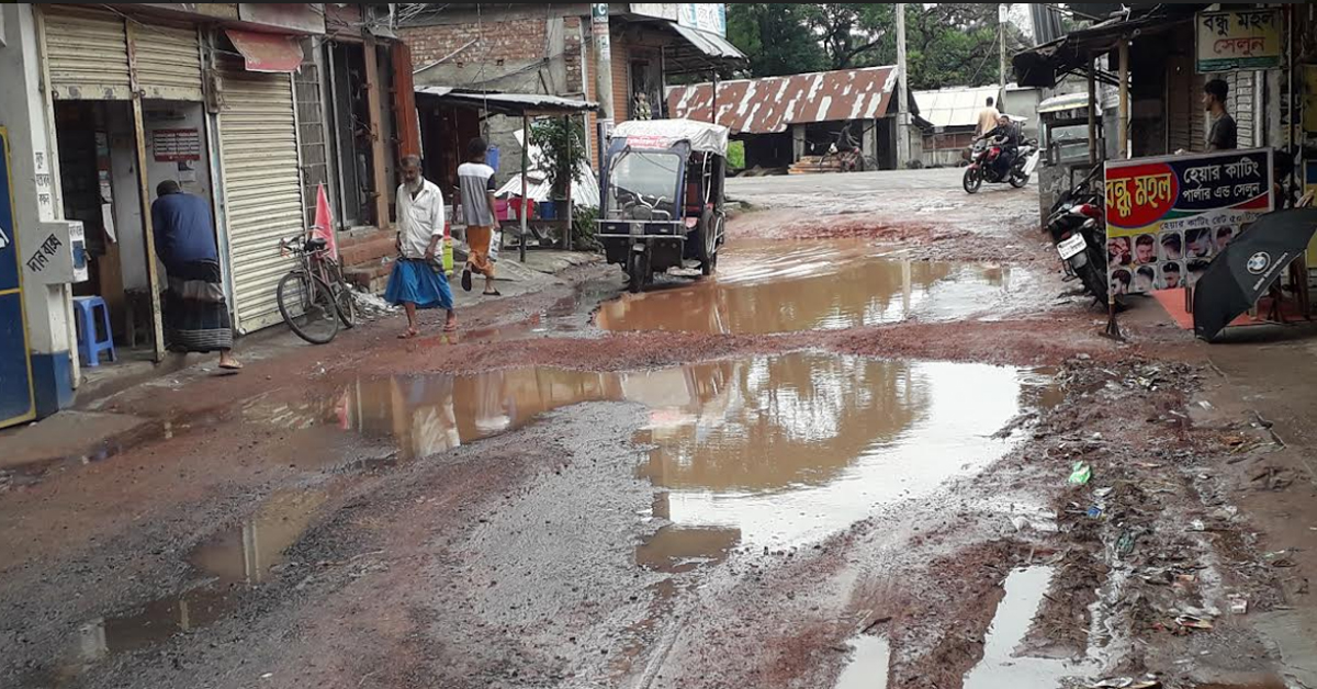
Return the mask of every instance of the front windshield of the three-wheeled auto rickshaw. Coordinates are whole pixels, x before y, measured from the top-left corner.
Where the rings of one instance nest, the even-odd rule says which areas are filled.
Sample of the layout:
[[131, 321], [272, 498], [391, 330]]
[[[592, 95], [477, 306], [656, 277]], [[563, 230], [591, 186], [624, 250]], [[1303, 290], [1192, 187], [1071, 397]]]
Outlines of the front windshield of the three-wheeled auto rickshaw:
[[[670, 220], [681, 182], [681, 157], [656, 150], [624, 150], [608, 170], [608, 217]], [[640, 217], [636, 211], [648, 217]]]

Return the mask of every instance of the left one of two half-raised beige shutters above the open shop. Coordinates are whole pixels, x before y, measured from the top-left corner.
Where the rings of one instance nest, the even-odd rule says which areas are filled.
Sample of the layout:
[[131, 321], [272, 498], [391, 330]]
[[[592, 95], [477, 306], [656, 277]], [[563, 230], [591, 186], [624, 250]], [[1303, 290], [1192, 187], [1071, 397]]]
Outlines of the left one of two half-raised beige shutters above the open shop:
[[50, 91], [62, 100], [128, 100], [124, 18], [91, 9], [42, 9]]

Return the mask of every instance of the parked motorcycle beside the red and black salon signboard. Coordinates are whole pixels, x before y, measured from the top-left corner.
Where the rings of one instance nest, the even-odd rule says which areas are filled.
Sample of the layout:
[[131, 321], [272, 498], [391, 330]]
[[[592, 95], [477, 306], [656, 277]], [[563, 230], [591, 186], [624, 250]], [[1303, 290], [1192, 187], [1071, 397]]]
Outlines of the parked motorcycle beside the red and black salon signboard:
[[1093, 188], [1102, 173], [1097, 166], [1073, 188], [1063, 192], [1047, 219], [1047, 233], [1067, 273], [1077, 275], [1084, 291], [1106, 303], [1106, 211], [1105, 194]]

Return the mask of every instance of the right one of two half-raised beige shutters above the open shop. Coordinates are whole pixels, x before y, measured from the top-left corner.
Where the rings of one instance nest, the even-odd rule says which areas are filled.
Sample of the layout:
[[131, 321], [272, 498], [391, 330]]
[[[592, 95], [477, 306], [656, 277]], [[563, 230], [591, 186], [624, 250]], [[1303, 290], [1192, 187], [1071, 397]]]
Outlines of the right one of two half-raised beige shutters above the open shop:
[[196, 29], [133, 26], [137, 84], [145, 97], [202, 100], [202, 51]]

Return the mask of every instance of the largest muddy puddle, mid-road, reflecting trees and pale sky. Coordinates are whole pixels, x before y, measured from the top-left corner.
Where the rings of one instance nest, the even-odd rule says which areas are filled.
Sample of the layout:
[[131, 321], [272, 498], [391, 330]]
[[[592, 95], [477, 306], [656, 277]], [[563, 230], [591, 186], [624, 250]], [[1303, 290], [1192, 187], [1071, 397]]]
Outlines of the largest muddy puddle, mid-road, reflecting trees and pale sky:
[[653, 548], [684, 563], [719, 560], [728, 540], [778, 547], [826, 537], [877, 506], [981, 469], [1006, 447], [993, 433], [1054, 399], [1047, 379], [985, 365], [797, 353], [644, 373], [362, 379], [325, 415], [411, 458], [582, 402], [645, 404], [639, 473], [662, 489], [656, 516], [677, 527]]

